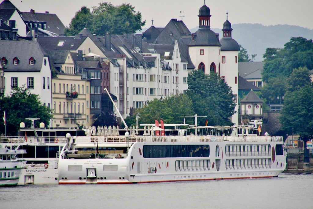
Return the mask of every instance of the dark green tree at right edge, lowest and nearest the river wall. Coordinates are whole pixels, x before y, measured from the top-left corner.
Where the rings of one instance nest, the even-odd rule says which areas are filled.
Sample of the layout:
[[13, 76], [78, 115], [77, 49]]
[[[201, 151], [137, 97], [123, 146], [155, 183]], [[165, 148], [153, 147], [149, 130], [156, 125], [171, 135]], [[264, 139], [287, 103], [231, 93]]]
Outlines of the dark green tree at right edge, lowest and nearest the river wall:
[[280, 123], [285, 130], [300, 135], [305, 143], [313, 138], [313, 87], [305, 85], [298, 90], [287, 93], [281, 111]]

